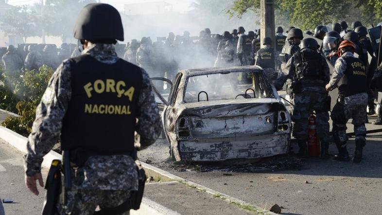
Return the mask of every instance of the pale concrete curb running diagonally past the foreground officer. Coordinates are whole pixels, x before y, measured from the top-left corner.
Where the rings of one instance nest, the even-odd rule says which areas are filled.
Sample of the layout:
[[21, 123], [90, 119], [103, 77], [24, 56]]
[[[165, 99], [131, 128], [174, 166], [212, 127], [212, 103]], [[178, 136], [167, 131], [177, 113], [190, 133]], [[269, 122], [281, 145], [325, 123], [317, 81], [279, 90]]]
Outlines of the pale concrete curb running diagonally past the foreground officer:
[[[0, 126], [0, 139], [4, 140], [5, 142], [9, 143], [10, 145], [14, 146], [17, 148], [17, 150], [26, 153], [27, 152], [27, 142], [28, 139], [20, 134], [17, 134], [16, 132]], [[46, 168], [51, 167], [52, 160], [58, 159], [61, 160], [61, 155], [58, 154], [57, 152], [50, 151], [47, 155], [44, 156], [44, 160], [42, 162], [42, 166]], [[229, 195], [220, 193], [218, 191], [212, 190], [206, 186], [203, 186], [201, 184], [192, 182], [187, 179], [183, 179], [181, 177], [175, 176], [174, 174], [171, 174], [167, 171], [164, 171], [162, 169], [159, 169], [155, 166], [152, 166], [150, 164], [147, 164], [145, 162], [139, 161], [142, 167], [145, 169], [146, 174], [148, 176], [153, 176], [153, 177], [161, 177], [162, 181], [179, 181], [180, 183], [183, 183], [185, 185], [188, 185], [190, 187], [196, 188], [201, 191], [205, 191], [210, 195], [220, 197], [230, 203], [241, 205], [241, 206], [250, 206], [254, 209], [254, 212], [257, 212], [259, 214], [269, 214], [269, 215], [276, 215], [275, 213], [272, 213], [268, 210], [264, 210], [256, 205], [247, 203], [241, 199], [231, 197]], [[142, 210], [142, 211], [141, 211]], [[147, 215], [147, 214], [157, 214], [157, 215], [177, 215], [176, 212], [159, 205], [158, 203], [148, 199], [148, 198], [143, 198], [141, 208], [138, 211], [131, 211], [132, 215]]]

